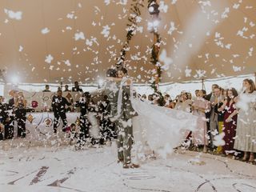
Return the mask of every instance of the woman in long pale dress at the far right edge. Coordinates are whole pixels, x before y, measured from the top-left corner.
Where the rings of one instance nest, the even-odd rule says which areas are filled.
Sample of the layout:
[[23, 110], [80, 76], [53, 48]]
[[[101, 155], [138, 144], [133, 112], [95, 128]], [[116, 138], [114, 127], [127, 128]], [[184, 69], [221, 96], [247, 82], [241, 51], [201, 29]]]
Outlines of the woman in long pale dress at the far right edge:
[[[242, 161], [249, 158], [254, 162], [256, 153], [256, 88], [254, 81], [246, 78], [242, 82], [243, 92], [238, 97], [238, 110], [230, 114], [230, 118], [238, 113], [237, 133], [234, 149], [244, 151]], [[239, 105], [240, 104], [240, 105]]]

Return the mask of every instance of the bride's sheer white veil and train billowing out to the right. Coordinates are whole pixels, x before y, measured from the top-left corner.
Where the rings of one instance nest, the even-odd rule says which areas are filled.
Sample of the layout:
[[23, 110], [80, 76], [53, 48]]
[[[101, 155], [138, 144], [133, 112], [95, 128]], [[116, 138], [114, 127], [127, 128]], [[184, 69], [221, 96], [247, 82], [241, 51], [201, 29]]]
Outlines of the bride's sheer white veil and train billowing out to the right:
[[[122, 86], [127, 78], [123, 78], [118, 95], [118, 113], [122, 106]], [[138, 158], [153, 150], [162, 158], [171, 154], [174, 147], [181, 144], [187, 130], [194, 130], [198, 117], [182, 110], [173, 110], [163, 106], [155, 106], [134, 97], [134, 87], [130, 85], [130, 101], [138, 113], [132, 119], [134, 146]]]

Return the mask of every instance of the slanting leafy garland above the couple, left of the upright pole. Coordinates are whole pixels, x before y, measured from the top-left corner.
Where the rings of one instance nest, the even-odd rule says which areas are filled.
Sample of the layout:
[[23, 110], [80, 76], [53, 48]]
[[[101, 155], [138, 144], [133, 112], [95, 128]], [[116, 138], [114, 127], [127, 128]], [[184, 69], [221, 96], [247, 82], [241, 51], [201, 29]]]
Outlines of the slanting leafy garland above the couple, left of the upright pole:
[[136, 18], [142, 14], [140, 7], [144, 7], [144, 5], [142, 4], [143, 1], [144, 0], [141, 0], [138, 2], [138, 0], [133, 0], [133, 3], [131, 4], [130, 15], [128, 17], [128, 24], [126, 25], [127, 26], [126, 42], [125, 42], [125, 45], [122, 47], [122, 50], [120, 51], [120, 56], [116, 64], [117, 68], [122, 67], [123, 62], [125, 61], [126, 51], [129, 50], [130, 40], [134, 36], [134, 34], [136, 34], [136, 30], [137, 30]]

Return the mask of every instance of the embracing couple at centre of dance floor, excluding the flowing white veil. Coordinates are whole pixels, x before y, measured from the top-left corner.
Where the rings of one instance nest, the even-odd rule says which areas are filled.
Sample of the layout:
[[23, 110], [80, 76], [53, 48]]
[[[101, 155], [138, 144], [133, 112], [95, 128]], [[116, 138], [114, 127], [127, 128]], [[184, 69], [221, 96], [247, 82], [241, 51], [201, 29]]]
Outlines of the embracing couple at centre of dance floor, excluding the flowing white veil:
[[[115, 124], [117, 131], [117, 145], [118, 145], [118, 162], [123, 163], [123, 168], [138, 168], [138, 165], [131, 163], [130, 150], [132, 146], [132, 126], [130, 111], [130, 86], [122, 86], [122, 106], [121, 113], [118, 114], [118, 94], [122, 82], [122, 78], [126, 73], [123, 69], [114, 69], [106, 71], [106, 86], [102, 94], [105, 94], [110, 103], [110, 120]], [[125, 71], [126, 72], [126, 71]], [[118, 76], [117, 76], [118, 74]], [[120, 93], [121, 94], [121, 93]]]

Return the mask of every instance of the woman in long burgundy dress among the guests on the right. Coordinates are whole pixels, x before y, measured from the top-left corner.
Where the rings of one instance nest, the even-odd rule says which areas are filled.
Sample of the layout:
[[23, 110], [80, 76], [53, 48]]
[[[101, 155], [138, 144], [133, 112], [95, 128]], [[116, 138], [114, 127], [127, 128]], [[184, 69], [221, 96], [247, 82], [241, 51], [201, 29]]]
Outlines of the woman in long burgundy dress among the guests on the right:
[[236, 135], [238, 115], [231, 116], [231, 114], [236, 110], [234, 101], [237, 96], [238, 92], [234, 88], [227, 90], [227, 98], [223, 106], [218, 109], [219, 111], [224, 110], [223, 132], [225, 136], [223, 140], [225, 141], [225, 146], [222, 146], [222, 154], [224, 155], [234, 153], [234, 137]]

